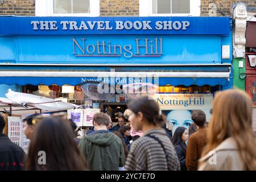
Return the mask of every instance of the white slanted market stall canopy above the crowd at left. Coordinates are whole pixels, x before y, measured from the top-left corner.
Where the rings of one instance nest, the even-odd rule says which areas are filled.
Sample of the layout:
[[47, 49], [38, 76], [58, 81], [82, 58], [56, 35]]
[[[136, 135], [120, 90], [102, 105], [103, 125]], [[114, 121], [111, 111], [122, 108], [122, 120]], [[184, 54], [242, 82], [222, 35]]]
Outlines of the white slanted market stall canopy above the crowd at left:
[[[16, 104], [23, 106], [24, 108], [34, 107], [45, 111], [61, 111], [68, 110], [77, 107], [75, 104], [65, 103], [63, 101], [56, 101], [51, 98], [35, 96], [27, 93], [14, 92], [11, 89], [5, 94], [5, 96]], [[7, 100], [6, 100], [7, 101]]]

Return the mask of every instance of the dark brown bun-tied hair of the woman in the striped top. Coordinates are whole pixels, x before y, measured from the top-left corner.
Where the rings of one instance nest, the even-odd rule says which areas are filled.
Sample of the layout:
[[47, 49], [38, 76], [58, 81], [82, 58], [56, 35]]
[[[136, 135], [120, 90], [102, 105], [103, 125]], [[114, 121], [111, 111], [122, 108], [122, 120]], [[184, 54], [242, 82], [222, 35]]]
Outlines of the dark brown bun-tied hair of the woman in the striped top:
[[163, 126], [166, 122], [166, 117], [162, 114], [159, 115], [158, 103], [152, 98], [147, 96], [138, 97], [129, 102], [127, 106], [134, 114], [141, 112], [147, 122], [155, 126]]

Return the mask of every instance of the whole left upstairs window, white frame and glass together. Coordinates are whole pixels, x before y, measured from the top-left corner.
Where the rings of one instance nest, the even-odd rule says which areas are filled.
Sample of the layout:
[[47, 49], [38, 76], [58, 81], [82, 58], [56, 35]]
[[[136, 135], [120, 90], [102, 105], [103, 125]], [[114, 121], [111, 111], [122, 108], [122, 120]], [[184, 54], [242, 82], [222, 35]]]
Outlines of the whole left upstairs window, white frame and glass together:
[[36, 1], [36, 16], [99, 16], [100, 0]]

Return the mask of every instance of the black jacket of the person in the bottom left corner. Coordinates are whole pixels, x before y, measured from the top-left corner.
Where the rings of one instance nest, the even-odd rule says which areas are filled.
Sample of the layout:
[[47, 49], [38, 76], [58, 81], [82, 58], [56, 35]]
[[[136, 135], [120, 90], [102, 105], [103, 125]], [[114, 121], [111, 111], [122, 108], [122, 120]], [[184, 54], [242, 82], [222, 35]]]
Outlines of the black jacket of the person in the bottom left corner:
[[0, 171], [24, 170], [24, 156], [22, 148], [0, 134]]

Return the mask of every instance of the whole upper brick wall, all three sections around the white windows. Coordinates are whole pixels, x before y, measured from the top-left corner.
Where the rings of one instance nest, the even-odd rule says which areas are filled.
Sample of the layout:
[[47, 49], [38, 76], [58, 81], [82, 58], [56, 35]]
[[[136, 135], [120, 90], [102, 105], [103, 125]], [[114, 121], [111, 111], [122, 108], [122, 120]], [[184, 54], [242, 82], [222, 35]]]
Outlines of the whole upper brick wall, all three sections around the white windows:
[[[40, 0], [44, 1], [44, 0]], [[201, 16], [232, 16], [233, 4], [239, 0], [201, 0]], [[247, 7], [256, 7], [256, 0], [243, 0]], [[215, 5], [210, 5], [215, 3]], [[35, 16], [34, 0], [2, 0], [1, 15]], [[100, 16], [139, 16], [139, 0], [100, 0]]]

